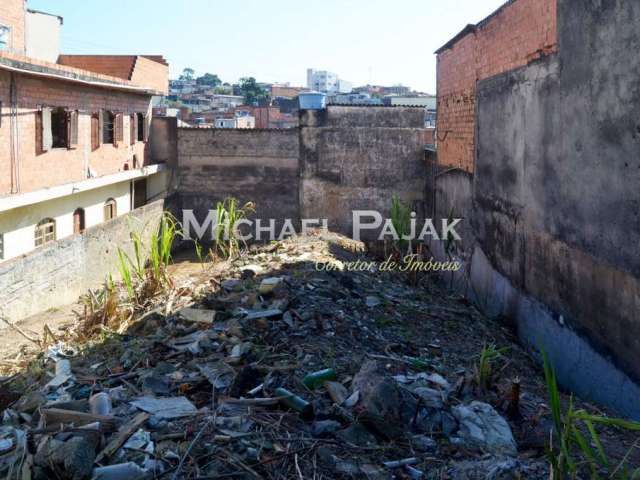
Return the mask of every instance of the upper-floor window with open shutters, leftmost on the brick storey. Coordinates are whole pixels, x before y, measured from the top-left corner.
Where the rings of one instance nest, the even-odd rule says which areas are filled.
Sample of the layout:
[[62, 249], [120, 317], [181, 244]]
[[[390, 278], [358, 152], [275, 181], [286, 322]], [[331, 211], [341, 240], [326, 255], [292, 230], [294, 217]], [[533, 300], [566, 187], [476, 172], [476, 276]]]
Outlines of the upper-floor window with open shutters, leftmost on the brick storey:
[[78, 111], [42, 107], [36, 112], [36, 153], [78, 146]]

